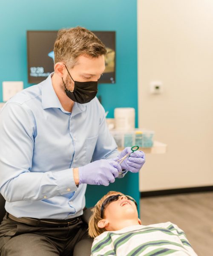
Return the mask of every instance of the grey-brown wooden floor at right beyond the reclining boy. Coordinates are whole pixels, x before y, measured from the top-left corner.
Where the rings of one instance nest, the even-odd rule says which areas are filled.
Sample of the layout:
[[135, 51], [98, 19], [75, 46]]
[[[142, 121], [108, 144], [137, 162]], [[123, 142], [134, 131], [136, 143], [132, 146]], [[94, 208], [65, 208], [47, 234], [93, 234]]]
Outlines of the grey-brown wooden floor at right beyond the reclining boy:
[[143, 225], [171, 221], [199, 256], [213, 256], [213, 192], [141, 199]]

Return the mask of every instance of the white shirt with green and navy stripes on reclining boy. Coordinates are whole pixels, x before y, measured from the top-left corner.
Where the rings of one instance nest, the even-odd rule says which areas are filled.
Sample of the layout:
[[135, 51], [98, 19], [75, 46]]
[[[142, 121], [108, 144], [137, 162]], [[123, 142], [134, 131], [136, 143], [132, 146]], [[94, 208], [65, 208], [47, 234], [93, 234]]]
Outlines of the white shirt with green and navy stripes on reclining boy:
[[171, 222], [105, 231], [92, 244], [92, 256], [197, 256], [183, 230]]

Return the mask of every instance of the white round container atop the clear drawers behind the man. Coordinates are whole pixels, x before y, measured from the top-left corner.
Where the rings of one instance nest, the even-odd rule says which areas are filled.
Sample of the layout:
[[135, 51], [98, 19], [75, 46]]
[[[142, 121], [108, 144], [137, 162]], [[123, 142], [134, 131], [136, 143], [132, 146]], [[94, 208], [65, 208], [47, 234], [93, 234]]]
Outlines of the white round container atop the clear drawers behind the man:
[[135, 129], [135, 108], [115, 108], [115, 129], [132, 131]]

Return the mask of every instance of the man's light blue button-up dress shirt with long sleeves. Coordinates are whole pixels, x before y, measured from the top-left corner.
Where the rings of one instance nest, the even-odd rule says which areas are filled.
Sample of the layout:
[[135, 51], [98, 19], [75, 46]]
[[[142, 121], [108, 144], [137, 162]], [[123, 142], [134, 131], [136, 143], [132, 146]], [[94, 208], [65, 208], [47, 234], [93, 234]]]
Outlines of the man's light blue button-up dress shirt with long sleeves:
[[18, 218], [82, 215], [86, 184], [75, 185], [72, 168], [118, 156], [98, 99], [65, 111], [51, 76], [0, 112], [0, 192]]

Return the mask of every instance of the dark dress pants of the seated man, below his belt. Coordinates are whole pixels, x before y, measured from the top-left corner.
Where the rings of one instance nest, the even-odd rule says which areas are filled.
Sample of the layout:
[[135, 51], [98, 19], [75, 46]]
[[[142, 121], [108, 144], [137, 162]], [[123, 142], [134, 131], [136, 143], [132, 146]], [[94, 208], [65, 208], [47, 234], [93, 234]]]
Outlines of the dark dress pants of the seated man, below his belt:
[[0, 224], [0, 256], [90, 256], [93, 239], [87, 228], [81, 219], [69, 227], [33, 227], [5, 216]]

